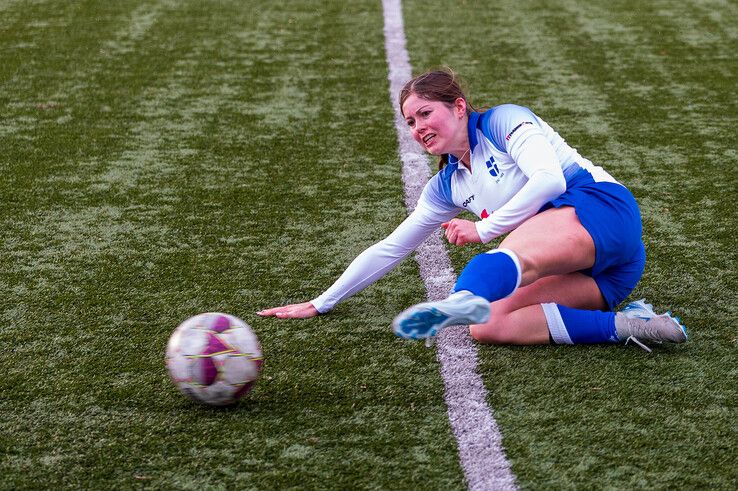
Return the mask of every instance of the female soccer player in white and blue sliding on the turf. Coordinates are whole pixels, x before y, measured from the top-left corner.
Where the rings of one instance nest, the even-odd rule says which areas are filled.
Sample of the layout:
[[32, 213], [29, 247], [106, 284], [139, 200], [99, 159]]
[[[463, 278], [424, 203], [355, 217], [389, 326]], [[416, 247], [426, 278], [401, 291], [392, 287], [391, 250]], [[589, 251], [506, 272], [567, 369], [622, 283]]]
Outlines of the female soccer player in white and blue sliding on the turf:
[[[525, 107], [475, 112], [453, 73], [410, 80], [400, 108], [415, 140], [441, 156], [440, 171], [394, 232], [362, 252], [316, 299], [259, 312], [306, 318], [381, 278], [439, 226], [457, 246], [498, 249], [475, 256], [446, 299], [415, 305], [393, 322], [397, 335], [428, 338], [448, 325], [495, 344], [686, 341], [677, 318], [638, 301], [612, 312], [646, 261], [633, 195]], [[454, 218], [462, 210], [480, 220]], [[640, 344], [640, 343], [639, 343]]]

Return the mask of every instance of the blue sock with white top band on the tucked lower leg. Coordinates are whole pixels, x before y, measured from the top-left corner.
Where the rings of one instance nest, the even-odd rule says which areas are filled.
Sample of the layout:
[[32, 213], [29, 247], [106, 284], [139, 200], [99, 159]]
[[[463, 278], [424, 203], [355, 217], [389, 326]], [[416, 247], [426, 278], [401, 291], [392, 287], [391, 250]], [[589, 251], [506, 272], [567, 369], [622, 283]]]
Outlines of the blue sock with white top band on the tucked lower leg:
[[541, 306], [551, 339], [556, 344], [619, 342], [615, 331], [615, 312], [571, 309], [555, 303]]

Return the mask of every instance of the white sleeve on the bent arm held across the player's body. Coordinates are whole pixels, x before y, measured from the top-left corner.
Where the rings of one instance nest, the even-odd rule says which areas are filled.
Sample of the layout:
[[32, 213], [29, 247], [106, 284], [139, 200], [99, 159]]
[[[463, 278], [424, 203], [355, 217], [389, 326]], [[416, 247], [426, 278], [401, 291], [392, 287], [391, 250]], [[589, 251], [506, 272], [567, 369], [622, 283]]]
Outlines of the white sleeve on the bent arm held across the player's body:
[[515, 229], [535, 215], [548, 201], [566, 191], [566, 179], [556, 152], [539, 132], [531, 132], [511, 144], [508, 152], [528, 177], [528, 182], [503, 206], [476, 223], [485, 244]]

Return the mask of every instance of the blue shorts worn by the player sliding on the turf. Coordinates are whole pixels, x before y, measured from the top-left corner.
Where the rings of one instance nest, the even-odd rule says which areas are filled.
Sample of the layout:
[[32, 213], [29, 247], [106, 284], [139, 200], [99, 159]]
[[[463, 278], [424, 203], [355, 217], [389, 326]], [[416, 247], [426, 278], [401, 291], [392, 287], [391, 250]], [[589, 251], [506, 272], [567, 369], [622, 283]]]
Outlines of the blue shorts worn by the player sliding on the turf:
[[566, 187], [542, 210], [574, 207], [595, 245], [594, 265], [582, 273], [595, 280], [608, 308], [614, 310], [633, 291], [646, 266], [638, 203], [625, 186], [595, 182], [586, 169], [567, 177]]

